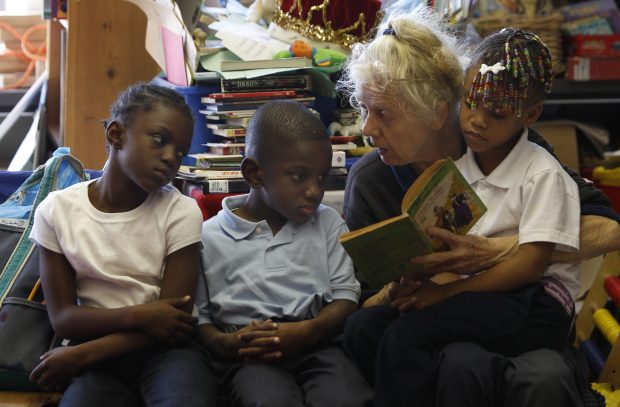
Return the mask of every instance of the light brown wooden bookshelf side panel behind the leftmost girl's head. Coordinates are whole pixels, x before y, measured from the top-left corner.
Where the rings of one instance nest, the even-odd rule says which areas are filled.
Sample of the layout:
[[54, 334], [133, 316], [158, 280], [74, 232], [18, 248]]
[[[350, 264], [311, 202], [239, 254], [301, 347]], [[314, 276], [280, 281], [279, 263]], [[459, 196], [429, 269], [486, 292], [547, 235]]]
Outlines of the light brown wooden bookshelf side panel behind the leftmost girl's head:
[[[101, 119], [119, 92], [159, 67], [145, 49], [147, 19], [125, 0], [69, 0], [66, 27], [51, 24], [49, 126], [86, 168], [106, 160]], [[66, 42], [65, 38], [66, 37]]]

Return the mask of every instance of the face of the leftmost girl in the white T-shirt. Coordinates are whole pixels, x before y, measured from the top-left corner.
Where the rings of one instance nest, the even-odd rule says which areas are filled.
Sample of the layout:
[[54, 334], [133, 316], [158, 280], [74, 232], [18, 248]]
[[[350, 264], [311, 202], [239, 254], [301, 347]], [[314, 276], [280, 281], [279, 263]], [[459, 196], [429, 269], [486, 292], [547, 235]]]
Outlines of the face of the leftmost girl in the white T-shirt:
[[157, 191], [175, 177], [189, 151], [191, 121], [178, 109], [156, 104], [123, 128], [116, 151], [122, 172], [142, 190]]

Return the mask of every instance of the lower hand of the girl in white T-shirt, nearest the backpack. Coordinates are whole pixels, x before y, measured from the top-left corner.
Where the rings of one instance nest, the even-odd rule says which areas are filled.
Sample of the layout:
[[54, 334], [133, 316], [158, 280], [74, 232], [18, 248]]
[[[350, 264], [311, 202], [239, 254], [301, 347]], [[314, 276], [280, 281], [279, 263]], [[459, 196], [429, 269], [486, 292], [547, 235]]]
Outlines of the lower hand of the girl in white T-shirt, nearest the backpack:
[[45, 352], [30, 373], [30, 381], [49, 391], [62, 391], [82, 370], [83, 357], [77, 346], [61, 346]]

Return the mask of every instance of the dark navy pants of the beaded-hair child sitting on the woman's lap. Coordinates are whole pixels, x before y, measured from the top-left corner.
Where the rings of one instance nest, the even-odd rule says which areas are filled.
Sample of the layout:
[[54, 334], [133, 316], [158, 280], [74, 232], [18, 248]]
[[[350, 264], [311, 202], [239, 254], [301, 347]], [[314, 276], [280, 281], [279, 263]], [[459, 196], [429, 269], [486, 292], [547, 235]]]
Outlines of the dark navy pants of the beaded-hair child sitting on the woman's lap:
[[507, 293], [467, 292], [402, 315], [388, 306], [360, 310], [347, 320], [344, 348], [374, 383], [375, 405], [432, 406], [438, 351], [444, 346], [474, 342], [507, 356], [561, 349], [570, 322], [539, 285]]

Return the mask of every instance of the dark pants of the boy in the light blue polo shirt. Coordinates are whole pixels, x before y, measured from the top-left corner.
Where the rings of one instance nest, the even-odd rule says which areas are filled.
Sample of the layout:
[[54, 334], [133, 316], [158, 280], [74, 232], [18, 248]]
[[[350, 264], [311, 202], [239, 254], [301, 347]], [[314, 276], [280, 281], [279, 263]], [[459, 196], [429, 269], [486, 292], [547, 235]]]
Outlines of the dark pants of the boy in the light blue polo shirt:
[[364, 407], [373, 392], [337, 346], [324, 346], [278, 364], [214, 362], [231, 406]]

